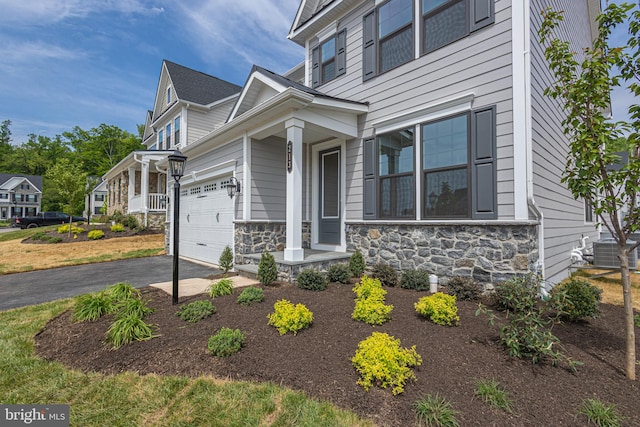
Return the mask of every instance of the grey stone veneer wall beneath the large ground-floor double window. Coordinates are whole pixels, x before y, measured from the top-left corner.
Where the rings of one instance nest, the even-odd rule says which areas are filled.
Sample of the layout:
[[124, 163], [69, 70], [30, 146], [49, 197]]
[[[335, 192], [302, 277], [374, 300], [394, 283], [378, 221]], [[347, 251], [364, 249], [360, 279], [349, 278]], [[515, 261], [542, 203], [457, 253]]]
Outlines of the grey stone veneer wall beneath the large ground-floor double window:
[[499, 283], [526, 274], [538, 261], [535, 224], [424, 225], [349, 223], [347, 250], [360, 249], [367, 266], [425, 269], [446, 279]]

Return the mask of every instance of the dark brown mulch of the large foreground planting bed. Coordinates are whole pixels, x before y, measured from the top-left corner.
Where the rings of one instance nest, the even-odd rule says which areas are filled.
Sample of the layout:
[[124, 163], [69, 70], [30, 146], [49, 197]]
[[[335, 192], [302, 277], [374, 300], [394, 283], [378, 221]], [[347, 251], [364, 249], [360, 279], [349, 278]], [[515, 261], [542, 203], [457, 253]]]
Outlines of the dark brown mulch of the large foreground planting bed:
[[[110, 319], [72, 323], [70, 313], [51, 320], [36, 337], [37, 353], [83, 371], [114, 374], [179, 374], [272, 381], [302, 390], [309, 396], [369, 417], [379, 425], [414, 425], [412, 404], [425, 394], [440, 393], [460, 411], [462, 426], [576, 426], [586, 425], [577, 415], [581, 402], [598, 398], [614, 403], [626, 417], [625, 425], [640, 425], [638, 382], [625, 379], [622, 308], [602, 305], [602, 316], [554, 329], [566, 352], [584, 366], [577, 373], [549, 364], [532, 365], [510, 359], [497, 342], [497, 329], [485, 316], [475, 316], [477, 303], [458, 302], [460, 326], [438, 326], [418, 317], [413, 304], [425, 293], [387, 288], [393, 320], [373, 327], [351, 320], [354, 295], [351, 286], [330, 284], [311, 292], [281, 284], [265, 289], [265, 301], [250, 307], [236, 303], [239, 293], [214, 300], [217, 313], [196, 324], [175, 315], [171, 297], [154, 288], [144, 298], [156, 309], [148, 321], [159, 337], [113, 351], [105, 347]], [[184, 298], [181, 303], [207, 298]], [[267, 324], [267, 314], [279, 299], [304, 303], [314, 314], [311, 328], [297, 336], [280, 336]], [[207, 352], [207, 341], [220, 327], [240, 328], [246, 347], [217, 359]], [[416, 346], [423, 358], [415, 372], [417, 381], [393, 396], [391, 389], [356, 385], [358, 374], [351, 358], [358, 342], [373, 331], [387, 332], [403, 347]], [[636, 328], [636, 334], [638, 329]], [[638, 350], [636, 350], [638, 351]], [[495, 378], [513, 399], [513, 414], [492, 409], [474, 396], [478, 379]]]

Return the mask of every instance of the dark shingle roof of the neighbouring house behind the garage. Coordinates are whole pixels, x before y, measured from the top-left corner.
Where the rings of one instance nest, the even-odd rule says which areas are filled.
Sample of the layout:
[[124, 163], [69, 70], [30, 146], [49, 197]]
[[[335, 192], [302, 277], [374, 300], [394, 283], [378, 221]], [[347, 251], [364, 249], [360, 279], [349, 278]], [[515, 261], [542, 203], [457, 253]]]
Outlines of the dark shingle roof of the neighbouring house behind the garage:
[[164, 60], [173, 90], [181, 101], [207, 105], [239, 93], [242, 88], [200, 71]]

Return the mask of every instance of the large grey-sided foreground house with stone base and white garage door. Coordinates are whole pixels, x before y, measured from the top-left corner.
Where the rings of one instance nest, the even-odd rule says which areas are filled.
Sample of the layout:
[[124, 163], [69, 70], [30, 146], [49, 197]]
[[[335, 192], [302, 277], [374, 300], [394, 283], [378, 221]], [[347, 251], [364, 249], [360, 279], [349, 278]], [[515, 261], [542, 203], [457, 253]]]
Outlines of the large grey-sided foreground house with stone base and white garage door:
[[[317, 251], [360, 249], [369, 266], [441, 277], [566, 277], [596, 230], [560, 182], [568, 143], [536, 35], [549, 5], [576, 51], [591, 45], [597, 0], [302, 0], [288, 37], [304, 62], [284, 76], [254, 66], [226, 120], [179, 145], [180, 254], [282, 251], [295, 274]], [[184, 106], [158, 117], [167, 64], [145, 133], [157, 148], [154, 123], [194, 119]]]

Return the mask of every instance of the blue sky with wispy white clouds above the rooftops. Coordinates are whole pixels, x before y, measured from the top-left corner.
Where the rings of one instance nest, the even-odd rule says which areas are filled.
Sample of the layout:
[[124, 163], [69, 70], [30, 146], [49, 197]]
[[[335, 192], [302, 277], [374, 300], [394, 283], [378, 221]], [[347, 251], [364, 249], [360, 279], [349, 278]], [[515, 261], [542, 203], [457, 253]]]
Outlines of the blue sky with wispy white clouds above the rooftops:
[[[618, 0], [615, 0], [618, 1]], [[101, 123], [136, 133], [162, 59], [242, 85], [285, 72], [299, 0], [0, 0], [0, 121], [14, 143]], [[621, 38], [624, 40], [624, 38]], [[613, 94], [614, 119], [633, 97]]]

